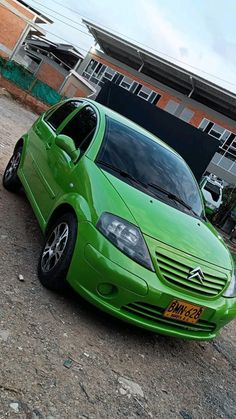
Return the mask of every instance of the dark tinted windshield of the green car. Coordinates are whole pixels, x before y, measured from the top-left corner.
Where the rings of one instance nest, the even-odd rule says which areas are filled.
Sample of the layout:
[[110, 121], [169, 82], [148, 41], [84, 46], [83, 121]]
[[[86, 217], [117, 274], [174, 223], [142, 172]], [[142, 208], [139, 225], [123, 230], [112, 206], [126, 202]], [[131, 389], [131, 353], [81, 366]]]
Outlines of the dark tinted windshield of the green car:
[[97, 163], [149, 195], [184, 211], [192, 209], [198, 216], [203, 214], [196, 180], [180, 157], [127, 125], [109, 117], [106, 121]]

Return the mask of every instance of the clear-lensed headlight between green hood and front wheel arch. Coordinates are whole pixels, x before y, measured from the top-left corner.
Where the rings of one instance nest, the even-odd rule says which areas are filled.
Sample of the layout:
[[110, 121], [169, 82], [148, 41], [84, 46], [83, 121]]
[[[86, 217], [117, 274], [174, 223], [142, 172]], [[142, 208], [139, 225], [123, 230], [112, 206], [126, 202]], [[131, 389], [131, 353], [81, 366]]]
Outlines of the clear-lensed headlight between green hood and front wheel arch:
[[123, 253], [154, 271], [146, 243], [137, 227], [123, 218], [104, 212], [97, 223], [97, 228]]

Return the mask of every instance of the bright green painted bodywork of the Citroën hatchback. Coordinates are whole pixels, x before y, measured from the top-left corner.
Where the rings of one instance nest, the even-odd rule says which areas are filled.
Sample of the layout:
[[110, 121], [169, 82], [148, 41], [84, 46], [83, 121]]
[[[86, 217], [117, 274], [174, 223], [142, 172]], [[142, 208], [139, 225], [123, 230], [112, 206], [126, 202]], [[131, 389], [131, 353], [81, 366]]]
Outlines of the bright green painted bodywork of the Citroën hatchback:
[[[57, 145], [57, 136], [88, 105], [96, 114], [95, 132], [87, 150], [78, 151], [78, 158], [72, 159], [70, 145], [66, 153]], [[96, 162], [107, 117], [176, 153], [141, 127], [90, 100], [79, 101], [56, 130], [48, 123], [50, 112], [42, 114], [22, 137], [18, 176], [43, 232], [62, 211], [71, 209], [76, 214], [78, 235], [67, 274], [70, 285], [100, 309], [142, 328], [186, 339], [214, 338], [236, 316], [236, 298], [224, 297], [233, 261], [217, 231], [204, 216], [196, 217], [155, 194], [150, 196]], [[152, 269], [127, 256], [101, 233], [98, 222], [104, 213], [141, 231]], [[199, 266], [208, 282], [189, 283], [189, 272]], [[204, 307], [199, 321], [192, 324], [164, 317], [174, 299]]]

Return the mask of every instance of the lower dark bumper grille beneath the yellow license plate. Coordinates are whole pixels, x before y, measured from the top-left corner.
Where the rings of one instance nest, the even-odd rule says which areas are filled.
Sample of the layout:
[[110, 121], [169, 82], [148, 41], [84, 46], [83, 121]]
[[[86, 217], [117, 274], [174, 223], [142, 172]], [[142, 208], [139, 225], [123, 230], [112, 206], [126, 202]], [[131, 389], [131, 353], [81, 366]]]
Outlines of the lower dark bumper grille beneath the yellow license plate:
[[136, 316], [145, 319], [150, 322], [151, 325], [156, 324], [160, 326], [171, 326], [176, 331], [185, 330], [185, 331], [196, 331], [196, 332], [205, 332], [212, 333], [215, 329], [214, 323], [209, 323], [205, 320], [198, 320], [197, 323], [184, 323], [177, 321], [170, 317], [163, 317], [164, 309], [160, 307], [153, 306], [151, 304], [143, 302], [135, 302], [127, 304], [122, 307], [122, 310], [135, 314]]

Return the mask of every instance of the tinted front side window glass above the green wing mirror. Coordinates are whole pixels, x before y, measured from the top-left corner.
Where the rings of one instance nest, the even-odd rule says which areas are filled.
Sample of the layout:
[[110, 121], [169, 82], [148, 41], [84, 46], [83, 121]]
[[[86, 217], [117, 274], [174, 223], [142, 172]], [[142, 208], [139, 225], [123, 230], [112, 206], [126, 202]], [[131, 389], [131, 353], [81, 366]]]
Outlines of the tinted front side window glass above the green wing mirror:
[[74, 140], [77, 148], [85, 152], [93, 138], [97, 125], [97, 116], [90, 106], [81, 109], [61, 131]]

